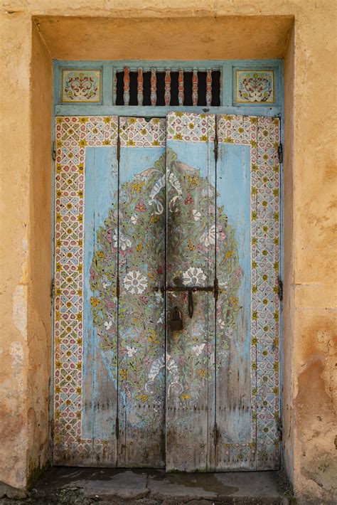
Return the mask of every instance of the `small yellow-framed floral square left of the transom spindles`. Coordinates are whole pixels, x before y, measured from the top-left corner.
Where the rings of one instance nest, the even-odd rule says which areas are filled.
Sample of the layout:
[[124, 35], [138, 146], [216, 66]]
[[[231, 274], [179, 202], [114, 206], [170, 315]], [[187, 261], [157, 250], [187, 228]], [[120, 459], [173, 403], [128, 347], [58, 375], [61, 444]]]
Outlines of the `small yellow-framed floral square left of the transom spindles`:
[[99, 103], [102, 90], [102, 71], [62, 69], [63, 103]]

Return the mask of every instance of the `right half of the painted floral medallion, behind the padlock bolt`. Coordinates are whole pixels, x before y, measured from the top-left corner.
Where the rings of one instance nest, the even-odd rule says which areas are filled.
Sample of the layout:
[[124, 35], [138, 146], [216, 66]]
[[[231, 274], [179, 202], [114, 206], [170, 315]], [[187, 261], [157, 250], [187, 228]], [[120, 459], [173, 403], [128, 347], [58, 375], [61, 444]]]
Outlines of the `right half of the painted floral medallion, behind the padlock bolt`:
[[[172, 116], [169, 116], [169, 122], [175, 120]], [[187, 122], [187, 118], [184, 121]], [[206, 123], [205, 128], [208, 127]], [[212, 135], [212, 132], [209, 131], [209, 134]], [[235, 327], [240, 310], [233, 302], [237, 299], [241, 282], [240, 276], [235, 275], [240, 270], [235, 230], [228, 224], [224, 208], [215, 208], [215, 188], [208, 176], [181, 162], [171, 148], [166, 148], [166, 169], [169, 174], [168, 283], [173, 285], [177, 280], [178, 284], [186, 287], [213, 286], [216, 251], [219, 281], [226, 280], [228, 283], [228, 289], [223, 289], [218, 299], [217, 317], [223, 319], [224, 329], [228, 332]], [[212, 292], [194, 292], [192, 319], [188, 315], [187, 292], [169, 292], [167, 303], [169, 310], [175, 305], [181, 310], [183, 330], [171, 332], [168, 326], [171, 367], [167, 370], [169, 398], [166, 401], [171, 408], [175, 405], [174, 422], [189, 422], [188, 416], [193, 418], [195, 412], [193, 405], [198, 408], [198, 405], [207, 402], [205, 392], [214, 386], [214, 297]], [[218, 349], [218, 356], [222, 352], [223, 349]]]

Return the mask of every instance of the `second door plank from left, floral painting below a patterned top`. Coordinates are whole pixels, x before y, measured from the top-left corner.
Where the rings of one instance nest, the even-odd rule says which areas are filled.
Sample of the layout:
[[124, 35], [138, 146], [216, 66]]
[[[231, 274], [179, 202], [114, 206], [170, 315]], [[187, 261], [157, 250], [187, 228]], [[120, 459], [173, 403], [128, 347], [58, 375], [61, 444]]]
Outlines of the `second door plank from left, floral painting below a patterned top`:
[[119, 122], [119, 466], [164, 467], [166, 121]]

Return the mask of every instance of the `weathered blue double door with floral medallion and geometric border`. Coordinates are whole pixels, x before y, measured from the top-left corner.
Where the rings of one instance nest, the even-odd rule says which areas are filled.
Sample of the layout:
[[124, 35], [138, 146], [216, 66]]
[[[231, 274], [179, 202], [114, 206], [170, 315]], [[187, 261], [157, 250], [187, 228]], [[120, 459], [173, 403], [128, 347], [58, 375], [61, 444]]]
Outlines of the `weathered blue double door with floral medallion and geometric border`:
[[277, 468], [279, 119], [58, 117], [56, 142], [55, 464]]

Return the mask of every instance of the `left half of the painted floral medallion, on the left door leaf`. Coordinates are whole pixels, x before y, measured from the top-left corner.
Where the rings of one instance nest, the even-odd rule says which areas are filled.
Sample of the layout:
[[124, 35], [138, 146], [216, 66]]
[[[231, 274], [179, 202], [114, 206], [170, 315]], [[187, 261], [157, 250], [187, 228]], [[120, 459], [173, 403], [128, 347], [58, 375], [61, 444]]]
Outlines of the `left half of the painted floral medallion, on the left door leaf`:
[[[130, 118], [127, 119], [129, 122]], [[132, 134], [134, 124], [129, 123]], [[161, 128], [163, 126], [161, 124]], [[148, 138], [144, 134], [144, 142]], [[117, 198], [116, 194], [116, 202]], [[120, 401], [124, 403], [129, 418], [132, 416], [133, 426], [138, 423], [153, 425], [156, 415], [161, 422], [164, 409], [164, 297], [155, 291], [164, 283], [164, 202], [165, 155], [159, 155], [151, 168], [122, 183], [119, 189], [119, 229], [116, 203], [104, 226], [97, 231], [99, 250], [93, 257], [90, 271], [90, 287], [99, 300], [92, 306], [97, 336], [109, 372], [114, 381], [119, 382]], [[105, 287], [105, 277], [114, 279], [118, 274], [116, 263], [111, 261], [111, 255], [117, 254], [118, 244], [119, 300], [112, 298], [109, 286]], [[112, 303], [118, 304], [119, 314], [118, 377], [117, 324], [105, 324]], [[151, 410], [135, 409], [139, 400], [151, 406]], [[156, 423], [158, 425], [159, 420]]]

